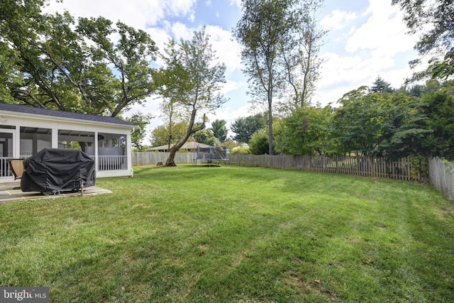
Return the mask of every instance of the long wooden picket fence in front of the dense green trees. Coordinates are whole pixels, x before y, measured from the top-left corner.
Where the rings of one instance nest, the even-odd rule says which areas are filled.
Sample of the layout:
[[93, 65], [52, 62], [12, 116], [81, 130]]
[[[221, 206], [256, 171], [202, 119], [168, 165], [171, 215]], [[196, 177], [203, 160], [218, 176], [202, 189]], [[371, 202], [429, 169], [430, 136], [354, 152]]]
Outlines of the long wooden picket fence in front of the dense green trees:
[[418, 169], [411, 158], [395, 161], [384, 158], [349, 157], [345, 155], [229, 155], [231, 165], [304, 170], [307, 172], [331, 172], [364, 177], [384, 177], [398, 180], [421, 181]]

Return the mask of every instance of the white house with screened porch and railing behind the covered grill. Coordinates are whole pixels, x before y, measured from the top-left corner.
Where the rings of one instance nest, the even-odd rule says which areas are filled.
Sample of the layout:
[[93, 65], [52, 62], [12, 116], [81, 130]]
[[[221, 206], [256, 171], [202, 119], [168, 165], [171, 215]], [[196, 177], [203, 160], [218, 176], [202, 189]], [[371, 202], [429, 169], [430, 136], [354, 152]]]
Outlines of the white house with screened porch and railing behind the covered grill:
[[133, 176], [132, 123], [121, 119], [0, 104], [0, 183], [11, 182], [8, 159], [43, 148], [81, 148], [92, 155], [96, 177]]

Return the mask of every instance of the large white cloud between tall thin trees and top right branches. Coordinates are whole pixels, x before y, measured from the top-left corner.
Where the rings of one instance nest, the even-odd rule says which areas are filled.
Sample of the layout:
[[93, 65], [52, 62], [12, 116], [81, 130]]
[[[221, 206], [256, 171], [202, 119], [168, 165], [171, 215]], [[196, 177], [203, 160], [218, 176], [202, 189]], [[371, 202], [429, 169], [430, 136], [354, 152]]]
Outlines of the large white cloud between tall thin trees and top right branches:
[[[341, 16], [345, 14], [333, 12], [328, 15], [331, 19], [323, 20], [342, 23]], [[339, 16], [338, 21], [335, 22], [333, 16]], [[399, 88], [411, 75], [408, 61], [414, 54], [417, 37], [406, 34], [399, 7], [382, 0], [370, 0], [361, 16], [349, 31], [336, 32], [337, 37], [345, 35], [348, 38], [338, 40], [334, 37], [328, 41], [331, 50], [321, 54], [326, 62], [322, 66], [314, 101], [323, 105], [336, 102], [353, 89], [370, 86], [378, 75], [392, 87]], [[365, 22], [359, 23], [364, 18]], [[408, 57], [409, 60], [402, 62], [402, 58]]]

